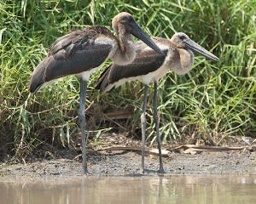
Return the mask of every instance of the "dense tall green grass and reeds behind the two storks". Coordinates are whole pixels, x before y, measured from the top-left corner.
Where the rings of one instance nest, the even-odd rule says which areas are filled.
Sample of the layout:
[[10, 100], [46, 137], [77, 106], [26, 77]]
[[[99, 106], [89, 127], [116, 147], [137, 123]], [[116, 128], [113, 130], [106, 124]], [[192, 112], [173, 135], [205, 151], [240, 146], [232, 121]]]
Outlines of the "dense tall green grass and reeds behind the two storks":
[[[65, 77], [35, 95], [28, 94], [27, 82], [57, 37], [93, 24], [111, 29], [120, 11], [133, 14], [152, 36], [170, 38], [183, 31], [220, 59], [212, 63], [196, 57], [189, 74], [170, 72], [161, 80], [164, 142], [192, 134], [217, 144], [230, 135], [255, 136], [256, 0], [0, 0], [0, 158], [24, 158], [42, 142], [68, 145], [79, 134], [78, 79]], [[91, 77], [88, 90], [91, 134], [97, 137], [115, 124], [102, 117], [106, 108], [134, 109], [121, 125], [135, 131], [142, 83], [99, 94], [94, 86], [100, 72]], [[154, 141], [152, 99], [148, 101], [148, 133]]]

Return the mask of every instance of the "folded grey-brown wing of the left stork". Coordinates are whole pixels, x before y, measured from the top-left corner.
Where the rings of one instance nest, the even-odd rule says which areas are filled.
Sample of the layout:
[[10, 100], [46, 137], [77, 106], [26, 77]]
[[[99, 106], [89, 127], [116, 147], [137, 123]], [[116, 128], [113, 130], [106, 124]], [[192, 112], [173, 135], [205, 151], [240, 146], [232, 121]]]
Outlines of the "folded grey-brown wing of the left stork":
[[[97, 41], [97, 37], [103, 40]], [[86, 27], [58, 38], [49, 48], [48, 56], [33, 71], [30, 91], [38, 90], [44, 82], [102, 65], [113, 48], [113, 40], [113, 34], [103, 26]]]

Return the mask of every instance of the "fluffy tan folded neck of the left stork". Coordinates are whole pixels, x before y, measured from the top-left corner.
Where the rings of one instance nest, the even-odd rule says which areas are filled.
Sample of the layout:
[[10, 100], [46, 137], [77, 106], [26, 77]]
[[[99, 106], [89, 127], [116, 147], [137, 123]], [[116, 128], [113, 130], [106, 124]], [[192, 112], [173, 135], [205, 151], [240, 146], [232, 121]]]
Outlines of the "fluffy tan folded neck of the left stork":
[[115, 52], [112, 56], [117, 65], [128, 65], [136, 58], [136, 48], [131, 34], [119, 35]]

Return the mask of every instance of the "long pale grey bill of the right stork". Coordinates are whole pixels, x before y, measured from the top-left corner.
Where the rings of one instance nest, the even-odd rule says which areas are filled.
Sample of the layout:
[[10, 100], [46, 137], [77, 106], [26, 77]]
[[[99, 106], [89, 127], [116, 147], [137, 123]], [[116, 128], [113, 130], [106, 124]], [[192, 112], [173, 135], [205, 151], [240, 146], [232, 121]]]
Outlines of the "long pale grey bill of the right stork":
[[218, 61], [218, 57], [214, 54], [208, 52], [205, 48], [202, 48], [199, 44], [194, 42], [191, 39], [186, 39], [183, 41], [187, 48], [194, 51], [197, 54], [201, 54], [202, 56], [206, 57], [207, 59], [211, 59], [212, 61]]

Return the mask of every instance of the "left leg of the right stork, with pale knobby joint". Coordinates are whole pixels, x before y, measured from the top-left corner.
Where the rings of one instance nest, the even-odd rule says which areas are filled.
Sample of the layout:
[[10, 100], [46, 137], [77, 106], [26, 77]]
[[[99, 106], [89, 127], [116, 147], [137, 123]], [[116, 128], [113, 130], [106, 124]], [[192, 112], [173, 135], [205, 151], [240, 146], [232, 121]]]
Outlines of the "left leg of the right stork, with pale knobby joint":
[[148, 95], [148, 85], [144, 86], [144, 93], [143, 93], [143, 113], [141, 116], [141, 123], [142, 123], [142, 171], [144, 173], [145, 170], [145, 140], [146, 140], [146, 108], [147, 108], [147, 95]]

